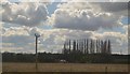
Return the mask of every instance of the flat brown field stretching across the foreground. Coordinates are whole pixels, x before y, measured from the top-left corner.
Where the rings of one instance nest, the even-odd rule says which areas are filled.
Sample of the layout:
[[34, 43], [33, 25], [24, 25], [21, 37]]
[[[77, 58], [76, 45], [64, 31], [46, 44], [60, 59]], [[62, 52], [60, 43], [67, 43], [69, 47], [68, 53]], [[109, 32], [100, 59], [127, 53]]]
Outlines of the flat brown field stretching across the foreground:
[[[128, 72], [128, 64], [38, 63], [37, 72]], [[3, 63], [3, 72], [36, 72], [35, 63]]]

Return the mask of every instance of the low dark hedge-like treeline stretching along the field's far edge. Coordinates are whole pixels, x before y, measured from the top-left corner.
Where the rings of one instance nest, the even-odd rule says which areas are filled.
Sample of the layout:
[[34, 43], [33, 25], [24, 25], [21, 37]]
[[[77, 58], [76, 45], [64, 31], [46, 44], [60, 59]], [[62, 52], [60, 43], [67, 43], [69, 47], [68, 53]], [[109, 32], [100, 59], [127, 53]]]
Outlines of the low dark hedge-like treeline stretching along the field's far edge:
[[[51, 54], [39, 53], [38, 62], [46, 63], [128, 63], [129, 55], [107, 54]], [[3, 62], [35, 62], [34, 54], [3, 53]]]

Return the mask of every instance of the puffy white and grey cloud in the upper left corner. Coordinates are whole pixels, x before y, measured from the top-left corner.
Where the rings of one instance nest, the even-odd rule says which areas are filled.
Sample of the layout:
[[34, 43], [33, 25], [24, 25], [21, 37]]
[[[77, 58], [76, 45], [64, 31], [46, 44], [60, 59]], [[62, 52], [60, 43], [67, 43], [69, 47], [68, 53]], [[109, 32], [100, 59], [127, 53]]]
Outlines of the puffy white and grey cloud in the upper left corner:
[[44, 3], [4, 3], [2, 10], [2, 21], [29, 27], [41, 25], [48, 16]]

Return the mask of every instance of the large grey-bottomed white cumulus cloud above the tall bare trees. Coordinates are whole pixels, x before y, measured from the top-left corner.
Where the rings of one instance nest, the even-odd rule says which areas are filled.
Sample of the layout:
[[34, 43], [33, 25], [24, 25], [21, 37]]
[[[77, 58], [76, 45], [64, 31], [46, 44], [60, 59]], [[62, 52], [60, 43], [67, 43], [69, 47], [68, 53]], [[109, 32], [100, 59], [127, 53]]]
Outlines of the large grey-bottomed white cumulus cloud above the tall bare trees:
[[[95, 11], [96, 10], [96, 11]], [[101, 12], [88, 2], [68, 2], [58, 5], [50, 17], [55, 28], [95, 31], [99, 28], [113, 28], [120, 26], [118, 18], [112, 13]]]

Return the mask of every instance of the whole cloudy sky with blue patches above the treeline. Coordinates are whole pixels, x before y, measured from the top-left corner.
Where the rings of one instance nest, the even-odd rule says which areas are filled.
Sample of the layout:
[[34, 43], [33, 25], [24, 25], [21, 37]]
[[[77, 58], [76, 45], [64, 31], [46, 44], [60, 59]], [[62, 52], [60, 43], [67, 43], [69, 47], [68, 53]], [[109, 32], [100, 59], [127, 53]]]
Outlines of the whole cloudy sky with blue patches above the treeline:
[[1, 2], [2, 51], [35, 53], [39, 33], [38, 51], [61, 53], [67, 39], [93, 39], [110, 40], [114, 54], [128, 54], [128, 3], [76, 1]]

